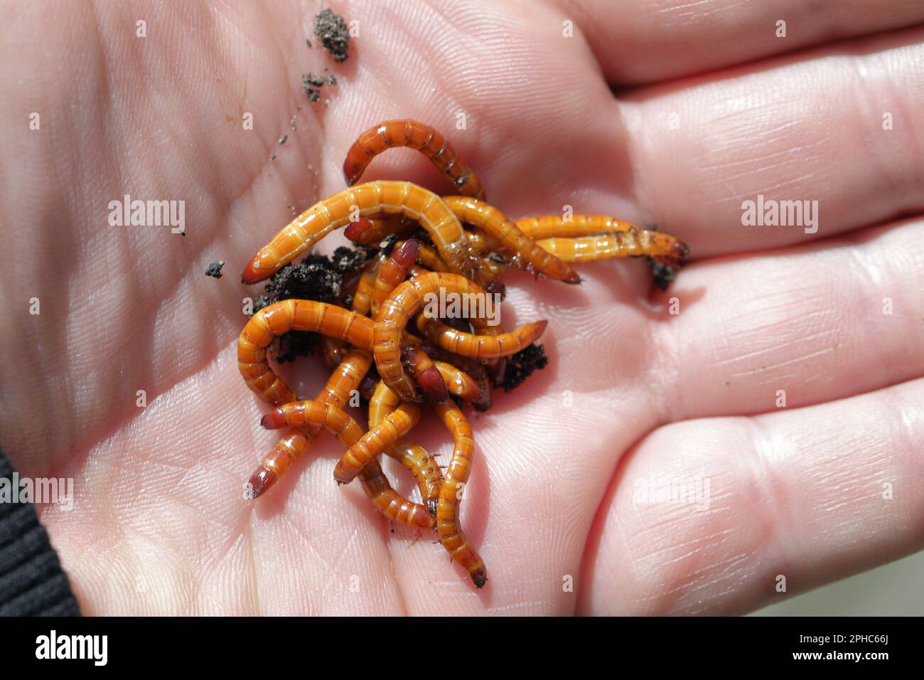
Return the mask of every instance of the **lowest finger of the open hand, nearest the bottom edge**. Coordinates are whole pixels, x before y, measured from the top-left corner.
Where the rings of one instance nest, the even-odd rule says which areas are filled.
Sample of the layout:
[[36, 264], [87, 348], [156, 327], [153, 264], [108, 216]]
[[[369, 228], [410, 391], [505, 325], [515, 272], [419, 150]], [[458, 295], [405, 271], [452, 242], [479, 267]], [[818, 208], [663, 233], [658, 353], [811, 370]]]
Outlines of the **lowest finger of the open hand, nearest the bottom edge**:
[[656, 430], [591, 528], [579, 611], [747, 612], [919, 550], [922, 409], [916, 380]]

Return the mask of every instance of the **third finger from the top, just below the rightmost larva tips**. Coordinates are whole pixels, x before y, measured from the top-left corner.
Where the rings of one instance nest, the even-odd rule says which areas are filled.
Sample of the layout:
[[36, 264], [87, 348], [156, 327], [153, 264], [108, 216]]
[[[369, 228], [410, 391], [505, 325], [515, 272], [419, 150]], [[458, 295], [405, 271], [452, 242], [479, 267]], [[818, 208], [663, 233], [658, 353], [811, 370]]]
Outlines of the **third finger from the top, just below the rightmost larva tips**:
[[663, 422], [842, 399], [924, 376], [924, 220], [691, 266], [653, 322]]

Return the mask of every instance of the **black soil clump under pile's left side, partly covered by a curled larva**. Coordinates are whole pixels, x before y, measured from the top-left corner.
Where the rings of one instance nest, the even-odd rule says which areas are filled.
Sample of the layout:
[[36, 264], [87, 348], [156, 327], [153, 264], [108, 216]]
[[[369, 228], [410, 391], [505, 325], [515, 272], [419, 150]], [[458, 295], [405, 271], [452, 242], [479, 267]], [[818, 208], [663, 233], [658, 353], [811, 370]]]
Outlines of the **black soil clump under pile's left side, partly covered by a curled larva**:
[[[333, 303], [340, 296], [343, 276], [365, 264], [374, 249], [340, 247], [331, 257], [310, 254], [298, 265], [286, 265], [266, 284], [267, 295], [253, 302], [254, 313], [280, 300], [296, 298]], [[275, 359], [280, 364], [314, 353], [318, 334], [292, 330], [276, 340]]]

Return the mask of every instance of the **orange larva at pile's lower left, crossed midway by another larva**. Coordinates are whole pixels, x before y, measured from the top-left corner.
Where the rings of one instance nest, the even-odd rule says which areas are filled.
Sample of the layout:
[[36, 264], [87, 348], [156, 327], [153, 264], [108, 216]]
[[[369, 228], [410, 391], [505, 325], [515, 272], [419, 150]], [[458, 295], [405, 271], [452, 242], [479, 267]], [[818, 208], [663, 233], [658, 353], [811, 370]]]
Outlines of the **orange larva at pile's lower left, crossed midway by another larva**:
[[[261, 425], [268, 429], [285, 427], [323, 427], [351, 449], [359, 445], [362, 429], [349, 415], [334, 404], [323, 402], [294, 402], [280, 406], [265, 414]], [[367, 465], [363, 472], [362, 487], [373, 504], [387, 517], [405, 525], [421, 529], [433, 528], [433, 517], [419, 503], [402, 498], [388, 483], [377, 461]]]

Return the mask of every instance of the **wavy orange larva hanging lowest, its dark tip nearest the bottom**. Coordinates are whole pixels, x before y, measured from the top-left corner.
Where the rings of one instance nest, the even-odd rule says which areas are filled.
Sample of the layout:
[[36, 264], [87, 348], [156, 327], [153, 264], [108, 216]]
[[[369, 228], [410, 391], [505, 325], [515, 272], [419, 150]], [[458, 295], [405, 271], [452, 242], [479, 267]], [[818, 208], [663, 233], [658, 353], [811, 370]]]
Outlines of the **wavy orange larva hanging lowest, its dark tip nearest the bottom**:
[[459, 522], [459, 503], [471, 473], [475, 440], [472, 439], [468, 419], [456, 404], [436, 404], [433, 408], [453, 434], [453, 457], [446, 468], [440, 500], [436, 504], [436, 531], [449, 556], [468, 571], [475, 587], [482, 587], [488, 580], [487, 569], [478, 552], [468, 542]]

